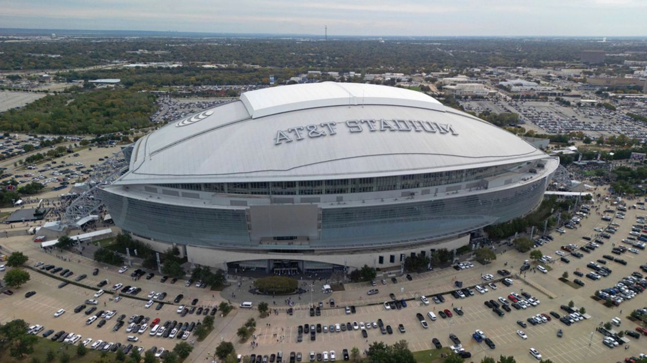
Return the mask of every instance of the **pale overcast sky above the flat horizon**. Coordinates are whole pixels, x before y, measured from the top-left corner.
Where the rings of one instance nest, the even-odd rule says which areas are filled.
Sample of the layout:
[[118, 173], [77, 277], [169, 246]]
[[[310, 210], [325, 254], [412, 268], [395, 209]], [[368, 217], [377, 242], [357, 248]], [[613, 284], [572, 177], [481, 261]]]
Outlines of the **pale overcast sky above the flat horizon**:
[[647, 0], [0, 0], [0, 27], [329, 36], [647, 36]]

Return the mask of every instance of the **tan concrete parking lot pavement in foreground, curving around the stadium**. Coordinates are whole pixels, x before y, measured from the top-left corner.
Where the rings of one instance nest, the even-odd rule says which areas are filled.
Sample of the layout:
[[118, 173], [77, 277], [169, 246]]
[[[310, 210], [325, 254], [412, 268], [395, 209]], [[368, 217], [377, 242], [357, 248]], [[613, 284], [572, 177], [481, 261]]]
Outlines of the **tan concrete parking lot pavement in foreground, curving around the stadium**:
[[[606, 203], [602, 203], [602, 205], [602, 209], [604, 209]], [[283, 306], [277, 306], [279, 308], [278, 315], [272, 314], [267, 318], [259, 318], [256, 309], [236, 309], [225, 318], [216, 315], [214, 332], [204, 342], [195, 343], [196, 349], [188, 361], [201, 362], [204, 360], [204, 356], [212, 352], [215, 346], [223, 339], [234, 342], [237, 352], [243, 354], [271, 354], [276, 353], [276, 351], [283, 351], [284, 354], [287, 354], [290, 351], [301, 351], [305, 357], [309, 351], [336, 350], [339, 355], [344, 348], [350, 350], [356, 346], [360, 350], [364, 350], [372, 342], [380, 340], [393, 344], [405, 339], [410, 349], [414, 351], [433, 349], [432, 338], [437, 338], [443, 346], [452, 345], [453, 343], [449, 339], [450, 333], [454, 333], [460, 338], [463, 348], [472, 354], [471, 360], [474, 361], [480, 360], [486, 355], [492, 357], [514, 355], [518, 362], [534, 362], [536, 361], [535, 358], [528, 354], [530, 347], [538, 349], [544, 358], [550, 358], [556, 363], [584, 360], [608, 362], [622, 360], [630, 355], [637, 356], [646, 350], [646, 340], [630, 338], [630, 349], [625, 350], [622, 347], [611, 349], [602, 344], [603, 337], [600, 333], [595, 332], [595, 328], [600, 323], [608, 322], [614, 316], [619, 316], [622, 320], [621, 328], [633, 330], [635, 324], [629, 322], [626, 315], [636, 307], [644, 306], [644, 298], [640, 296], [633, 300], [626, 300], [619, 307], [608, 308], [599, 302], [595, 302], [589, 296], [593, 295], [597, 289], [609, 287], [609, 285], [615, 284], [622, 276], [630, 275], [632, 271], [637, 271], [638, 265], [645, 263], [645, 252], [623, 254], [622, 258], [628, 261], [628, 265], [609, 262], [607, 266], [613, 269], [610, 276], [597, 281], [582, 278], [586, 285], [578, 289], [560, 282], [558, 277], [562, 276], [564, 271], [569, 273], [570, 280], [575, 278], [573, 273], [576, 270], [586, 273], [588, 270], [586, 264], [602, 258], [603, 254], [608, 254], [611, 250], [611, 244], [614, 242], [619, 243], [622, 238], [626, 238], [631, 231], [631, 225], [634, 224], [635, 214], [641, 213], [647, 214], [639, 209], [629, 209], [624, 220], [615, 218], [611, 222], [620, 224], [617, 233], [613, 234], [609, 240], [605, 240], [606, 243], [600, 245], [595, 251], [586, 253], [584, 258], [569, 257], [569, 264], [560, 262], [558, 254], [555, 253], [560, 250], [560, 246], [565, 244], [582, 246], [587, 242], [582, 240], [582, 236], [594, 236], [598, 234], [594, 230], [595, 228], [604, 229], [611, 222], [602, 221], [600, 216], [591, 213], [587, 218], [582, 219], [577, 229], [567, 229], [563, 235], [553, 233], [554, 240], [539, 247], [545, 255], [552, 256], [556, 261], [550, 264], [552, 271], [545, 274], [539, 271], [531, 272], [531, 269], [526, 271], [525, 276], [515, 276], [518, 275], [518, 269], [523, 260], [528, 258], [528, 254], [521, 254], [513, 250], [498, 254], [497, 260], [486, 266], [475, 262], [474, 267], [461, 271], [448, 268], [421, 274], [411, 274], [411, 281], [396, 274], [397, 283], [395, 284], [391, 282], [391, 274], [384, 273], [384, 276], [378, 276], [377, 286], [375, 287], [368, 283], [347, 284], [345, 285], [345, 291], [336, 291], [331, 296], [334, 298], [337, 307], [329, 307], [326, 299], [320, 316], [310, 316], [307, 307], [308, 303], [305, 301], [300, 301], [302, 304], [295, 306], [293, 315], [285, 313], [285, 307]], [[223, 296], [220, 296], [217, 292], [198, 289], [193, 286], [185, 287], [182, 280], [175, 285], [171, 285], [169, 282], [162, 284], [159, 281], [160, 276], [155, 276], [151, 280], [142, 278], [137, 282], [133, 282], [129, 280], [129, 271], [124, 275], [120, 275], [116, 272], [116, 267], [104, 269], [103, 266], [100, 266], [99, 275], [92, 276], [92, 269], [98, 265], [89, 258], [79, 258], [71, 253], [61, 253], [63, 258], [68, 258], [69, 260], [60, 260], [60, 258], [56, 258], [52, 254], [41, 252], [28, 239], [28, 236], [8, 238], [3, 242], [3, 247], [25, 251], [32, 258], [30, 264], [39, 260], [72, 269], [75, 275], [72, 275], [71, 279], [85, 273], [88, 277], [83, 280], [83, 283], [87, 285], [94, 286], [100, 280], [107, 278], [110, 284], [120, 282], [124, 285], [141, 287], [142, 293], [138, 296], [144, 298], [149, 291], [166, 291], [168, 293], [166, 300], [171, 301], [170, 304], [164, 305], [160, 311], [156, 311], [154, 307], [146, 309], [144, 307], [145, 301], [142, 300], [125, 297], [120, 302], [113, 302], [110, 299], [111, 295], [104, 294], [100, 296], [97, 299], [99, 300], [98, 310], [115, 309], [117, 316], [121, 314], [126, 316], [144, 315], [149, 316], [151, 320], [160, 317], [162, 322], [165, 320], [195, 322], [201, 320], [203, 316], [187, 315], [181, 318], [177, 315], [177, 305], [172, 304], [172, 300], [177, 294], [184, 294], [185, 297], [182, 302], [190, 302], [193, 298], [199, 298], [198, 306], [215, 306], [223, 300]], [[505, 265], [506, 263], [507, 265]], [[498, 269], [512, 271], [512, 276], [510, 277], [514, 280], [514, 284], [506, 287], [499, 282], [495, 282], [497, 289], [489, 288], [489, 291], [485, 294], [474, 291], [474, 296], [467, 296], [466, 298], [454, 298], [451, 295], [444, 295], [446, 301], [441, 304], [434, 304], [431, 301], [432, 294], [450, 291], [456, 280], [463, 282], [463, 286], [473, 286], [486, 283], [481, 279], [481, 275], [492, 274], [499, 278], [496, 273]], [[96, 322], [90, 326], [85, 325], [87, 315], [83, 314], [83, 312], [74, 313], [74, 307], [82, 304], [85, 299], [92, 298], [95, 289], [87, 289], [72, 284], [58, 289], [60, 280], [37, 272], [32, 272], [31, 275], [32, 280], [24, 287], [17, 289], [13, 296], [0, 295], [0, 321], [6, 322], [12, 318], [23, 318], [30, 324], [41, 324], [45, 326], [45, 329], [74, 331], [74, 333], [81, 334], [83, 338], [90, 337], [94, 340], [102, 339], [110, 342], [126, 343], [126, 336], [129, 333], [126, 333], [125, 327], [117, 332], [112, 331], [115, 318], [105, 324], [104, 327], [98, 328], [96, 327]], [[380, 283], [382, 278], [386, 280], [384, 285]], [[105, 286], [106, 290], [109, 289], [109, 286]], [[542, 291], [539, 291], [534, 286], [541, 286]], [[373, 288], [379, 289], [379, 293], [377, 295], [367, 295], [366, 291]], [[25, 292], [31, 290], [37, 291], [36, 295], [25, 298], [23, 296]], [[529, 293], [538, 298], [540, 304], [527, 309], [511, 309], [510, 312], [505, 312], [505, 315], [501, 317], [494, 314], [484, 305], [485, 300], [498, 300], [499, 296], [505, 298], [512, 291]], [[385, 300], [390, 300], [388, 295], [391, 293], [398, 299], [406, 300], [408, 306], [387, 311], [382, 303]], [[422, 304], [419, 299], [421, 295], [430, 297], [430, 305], [425, 306]], [[549, 295], [555, 297], [549, 298]], [[564, 311], [560, 309], [560, 306], [567, 304], [569, 300], [573, 300], [577, 308], [585, 307], [586, 313], [591, 318], [576, 322], [572, 326], [565, 326], [555, 318], [550, 322], [536, 326], [527, 324], [527, 327], [522, 328], [516, 324], [517, 320], [525, 322], [530, 316], [540, 313], [554, 311], [563, 315]], [[344, 307], [350, 305], [356, 306], [356, 313], [347, 315]], [[270, 304], [270, 307], [273, 306]], [[454, 313], [451, 318], [438, 316], [435, 321], [430, 321], [426, 318], [429, 324], [428, 329], [424, 329], [416, 317], [417, 313], [421, 313], [426, 317], [428, 311], [435, 312], [438, 315], [440, 310], [449, 309], [452, 311], [453, 307], [461, 307], [464, 315], [459, 316]], [[54, 312], [61, 308], [65, 309], [66, 312], [60, 317], [54, 318]], [[624, 313], [620, 313], [621, 310]], [[250, 342], [240, 343], [236, 336], [237, 328], [243, 325], [250, 317], [257, 320], [256, 331], [254, 332], [256, 337], [250, 338], [250, 341], [254, 340], [258, 343], [257, 347], [252, 347]], [[316, 324], [325, 324], [329, 326], [347, 322], [372, 323], [378, 319], [382, 319], [385, 325], [391, 326], [393, 333], [383, 335], [380, 333], [380, 329], [371, 328], [367, 329], [367, 338], [364, 338], [360, 330], [327, 333], [322, 331], [322, 333], [316, 334], [316, 340], [314, 341], [310, 340], [308, 334], [304, 334], [303, 341], [297, 342], [299, 325], [314, 324], [316, 326]], [[399, 324], [404, 326], [405, 333], [400, 333], [398, 330]], [[496, 344], [496, 348], [490, 349], [485, 343], [476, 342], [471, 337], [475, 329], [481, 329]], [[525, 331], [527, 339], [524, 340], [517, 335], [518, 329]], [[564, 331], [564, 336], [561, 338], [556, 336], [558, 329]], [[593, 337], [591, 337], [591, 332], [593, 332]], [[138, 337], [140, 337], [140, 341], [136, 345], [145, 348], [164, 346], [170, 349], [179, 341], [149, 337], [147, 333]], [[188, 338], [188, 340], [192, 339], [192, 337]]]

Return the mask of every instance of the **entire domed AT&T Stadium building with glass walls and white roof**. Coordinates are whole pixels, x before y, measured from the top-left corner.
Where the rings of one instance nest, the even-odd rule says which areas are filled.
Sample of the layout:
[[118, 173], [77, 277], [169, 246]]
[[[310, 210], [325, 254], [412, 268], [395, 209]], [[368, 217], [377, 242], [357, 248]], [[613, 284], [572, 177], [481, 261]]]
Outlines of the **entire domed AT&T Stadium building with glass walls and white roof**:
[[114, 222], [195, 264], [274, 273], [400, 266], [539, 205], [559, 165], [421, 92], [308, 83], [170, 123], [100, 190]]

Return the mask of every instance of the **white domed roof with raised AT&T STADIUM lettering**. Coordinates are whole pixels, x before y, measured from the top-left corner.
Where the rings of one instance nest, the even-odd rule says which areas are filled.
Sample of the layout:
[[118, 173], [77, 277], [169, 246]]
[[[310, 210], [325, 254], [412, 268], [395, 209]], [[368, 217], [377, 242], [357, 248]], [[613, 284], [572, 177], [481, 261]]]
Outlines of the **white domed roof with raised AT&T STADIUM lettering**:
[[116, 184], [388, 176], [545, 157], [421, 92], [324, 82], [245, 92], [166, 125], [137, 141]]

